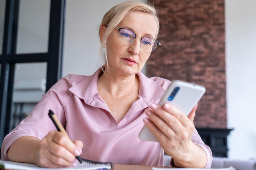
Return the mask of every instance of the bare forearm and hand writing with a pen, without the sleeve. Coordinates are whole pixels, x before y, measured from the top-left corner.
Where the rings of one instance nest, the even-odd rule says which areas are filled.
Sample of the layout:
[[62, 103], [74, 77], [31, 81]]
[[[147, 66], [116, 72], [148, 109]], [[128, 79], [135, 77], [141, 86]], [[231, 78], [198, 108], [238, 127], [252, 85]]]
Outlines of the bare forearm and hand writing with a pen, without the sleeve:
[[75, 156], [81, 154], [82, 147], [81, 141], [73, 143], [61, 132], [51, 131], [42, 140], [31, 136], [18, 138], [7, 150], [7, 157], [40, 167], [63, 168], [76, 165]]

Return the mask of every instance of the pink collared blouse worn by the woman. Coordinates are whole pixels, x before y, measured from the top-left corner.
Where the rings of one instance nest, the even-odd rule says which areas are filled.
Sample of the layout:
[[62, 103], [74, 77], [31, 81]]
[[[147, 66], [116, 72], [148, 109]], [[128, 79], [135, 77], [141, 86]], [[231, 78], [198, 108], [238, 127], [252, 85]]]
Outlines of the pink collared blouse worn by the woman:
[[[93, 75], [67, 75], [43, 95], [31, 114], [14, 128], [2, 143], [1, 157], [7, 160], [6, 152], [13, 142], [22, 136], [43, 139], [56, 130], [48, 116], [51, 109], [72, 140], [83, 141], [82, 158], [95, 161], [112, 161], [116, 164], [164, 165], [164, 150], [158, 142], [143, 141], [138, 135], [144, 126], [144, 109], [159, 102], [170, 81], [159, 77], [148, 78], [138, 73], [139, 99], [117, 124], [106, 102], [99, 96], [97, 82], [99, 68]], [[195, 130], [192, 141], [207, 153], [206, 168], [212, 161], [211, 150]]]

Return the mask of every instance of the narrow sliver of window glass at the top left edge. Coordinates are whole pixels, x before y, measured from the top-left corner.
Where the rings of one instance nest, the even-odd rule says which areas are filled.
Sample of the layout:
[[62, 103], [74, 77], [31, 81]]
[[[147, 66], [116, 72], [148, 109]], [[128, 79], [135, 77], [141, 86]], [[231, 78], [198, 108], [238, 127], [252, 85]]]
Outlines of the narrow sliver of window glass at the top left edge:
[[5, 16], [5, 0], [0, 0], [0, 55], [2, 54], [4, 40], [4, 16]]

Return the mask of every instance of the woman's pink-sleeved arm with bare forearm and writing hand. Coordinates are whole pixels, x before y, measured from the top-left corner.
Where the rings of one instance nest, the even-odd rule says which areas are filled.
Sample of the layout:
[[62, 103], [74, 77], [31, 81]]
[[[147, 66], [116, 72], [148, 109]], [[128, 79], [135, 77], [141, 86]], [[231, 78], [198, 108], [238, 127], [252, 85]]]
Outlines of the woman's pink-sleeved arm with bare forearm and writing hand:
[[61, 124], [66, 123], [63, 105], [72, 96], [68, 89], [73, 81], [74, 75], [66, 76], [43, 95], [32, 112], [4, 138], [2, 159], [51, 168], [72, 165], [74, 156], [78, 155], [75, 149], [80, 150], [83, 144], [81, 141], [74, 141], [74, 144], [68, 137], [56, 131], [47, 113], [49, 109], [54, 110]]

